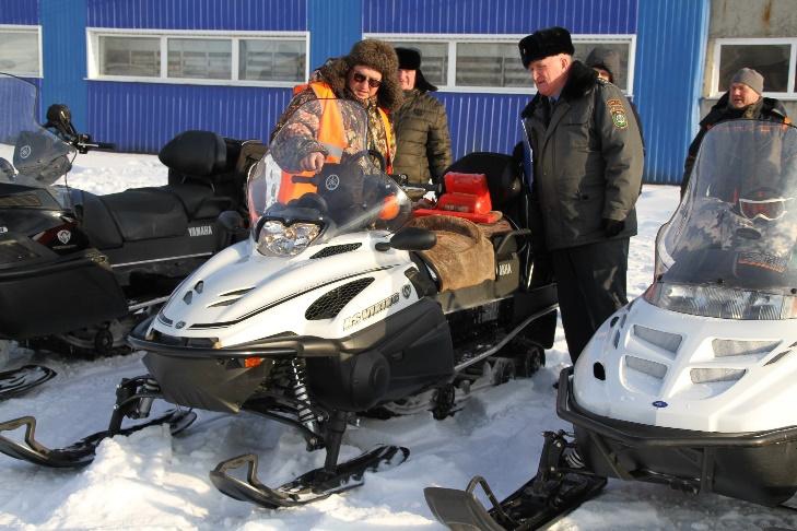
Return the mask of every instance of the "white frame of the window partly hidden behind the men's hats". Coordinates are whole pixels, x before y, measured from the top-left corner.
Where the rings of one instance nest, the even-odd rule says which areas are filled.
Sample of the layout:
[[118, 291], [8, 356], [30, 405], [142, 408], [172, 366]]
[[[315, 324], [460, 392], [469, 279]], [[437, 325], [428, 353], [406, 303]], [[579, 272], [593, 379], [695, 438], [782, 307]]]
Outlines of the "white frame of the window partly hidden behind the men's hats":
[[[453, 92], [453, 93], [484, 93], [484, 94], [537, 94], [537, 88], [531, 83], [529, 75], [528, 88], [519, 86], [471, 86], [471, 85], [457, 85], [456, 72], [457, 72], [457, 44], [479, 44], [479, 43], [496, 43], [496, 44], [512, 44], [517, 46], [517, 43], [524, 38], [526, 34], [427, 34], [427, 33], [366, 33], [363, 35], [365, 38], [378, 38], [391, 42], [414, 42], [414, 43], [434, 43], [434, 44], [447, 44], [448, 45], [448, 70], [446, 72], [447, 85], [438, 86], [439, 92]], [[636, 67], [636, 35], [635, 34], [573, 34], [571, 35], [573, 43], [595, 43], [597, 44], [610, 44], [610, 43], [628, 43], [629, 44], [629, 63], [628, 63], [628, 85], [629, 90], [624, 91], [628, 96], [633, 95], [634, 86], [634, 70]], [[520, 56], [517, 58], [520, 61]]]

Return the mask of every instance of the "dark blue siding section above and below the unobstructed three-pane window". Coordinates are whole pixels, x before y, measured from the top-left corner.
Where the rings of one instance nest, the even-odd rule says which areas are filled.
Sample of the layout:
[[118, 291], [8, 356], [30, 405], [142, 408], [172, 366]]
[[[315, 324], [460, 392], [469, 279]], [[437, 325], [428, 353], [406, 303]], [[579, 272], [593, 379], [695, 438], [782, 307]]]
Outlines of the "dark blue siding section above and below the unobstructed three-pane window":
[[[85, 0], [90, 27], [306, 31], [306, 0]], [[85, 38], [85, 37], [84, 37]], [[83, 54], [85, 63], [85, 54]], [[89, 131], [120, 151], [157, 152], [208, 129], [267, 140], [290, 88], [89, 81]]]

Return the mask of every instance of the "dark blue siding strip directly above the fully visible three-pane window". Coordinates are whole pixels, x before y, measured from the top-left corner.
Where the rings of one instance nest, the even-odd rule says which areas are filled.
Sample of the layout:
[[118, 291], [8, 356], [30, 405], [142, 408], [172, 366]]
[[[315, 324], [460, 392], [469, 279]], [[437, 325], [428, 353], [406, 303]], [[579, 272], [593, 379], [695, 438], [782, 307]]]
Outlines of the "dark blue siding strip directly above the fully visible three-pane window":
[[[303, 32], [307, 0], [86, 0], [92, 27]], [[329, 2], [333, 4], [336, 2]]]

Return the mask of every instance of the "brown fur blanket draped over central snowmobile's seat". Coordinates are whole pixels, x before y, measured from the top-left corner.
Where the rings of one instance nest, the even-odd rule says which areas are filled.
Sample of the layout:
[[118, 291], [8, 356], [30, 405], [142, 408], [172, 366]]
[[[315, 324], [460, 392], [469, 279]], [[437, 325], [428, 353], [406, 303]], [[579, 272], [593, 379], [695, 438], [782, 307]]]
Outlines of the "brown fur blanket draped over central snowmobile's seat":
[[450, 215], [427, 215], [413, 219], [410, 225], [437, 236], [437, 245], [421, 251], [421, 256], [437, 275], [442, 292], [495, 280], [493, 245], [476, 223]]

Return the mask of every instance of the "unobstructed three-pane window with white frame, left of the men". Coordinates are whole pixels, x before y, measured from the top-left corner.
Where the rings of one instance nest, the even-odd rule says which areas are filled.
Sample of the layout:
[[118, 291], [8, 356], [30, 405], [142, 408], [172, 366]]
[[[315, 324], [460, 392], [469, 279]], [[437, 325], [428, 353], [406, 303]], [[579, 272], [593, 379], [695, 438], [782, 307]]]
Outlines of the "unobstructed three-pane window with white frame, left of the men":
[[307, 78], [304, 34], [89, 30], [89, 78], [293, 86]]

